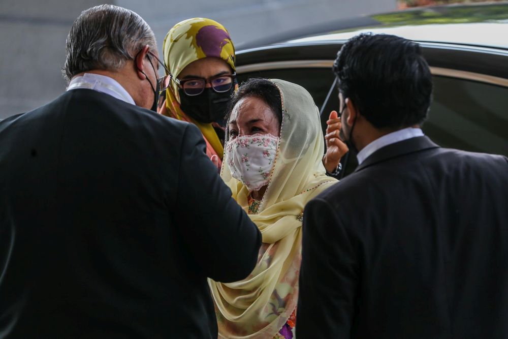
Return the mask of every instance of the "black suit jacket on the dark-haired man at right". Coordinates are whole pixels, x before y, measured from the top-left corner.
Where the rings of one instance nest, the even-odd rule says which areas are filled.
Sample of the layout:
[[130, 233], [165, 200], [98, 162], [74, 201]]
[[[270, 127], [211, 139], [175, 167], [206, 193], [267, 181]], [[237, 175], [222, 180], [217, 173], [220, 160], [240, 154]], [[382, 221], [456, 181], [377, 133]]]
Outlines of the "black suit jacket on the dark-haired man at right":
[[297, 337], [507, 338], [508, 160], [385, 146], [310, 201]]

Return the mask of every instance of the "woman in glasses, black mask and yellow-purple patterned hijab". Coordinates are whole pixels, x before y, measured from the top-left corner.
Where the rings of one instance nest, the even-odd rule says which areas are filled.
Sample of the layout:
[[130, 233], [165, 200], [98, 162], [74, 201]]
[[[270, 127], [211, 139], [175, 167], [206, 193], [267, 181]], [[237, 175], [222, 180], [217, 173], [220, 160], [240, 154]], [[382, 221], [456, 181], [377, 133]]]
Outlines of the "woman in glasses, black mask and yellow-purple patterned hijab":
[[208, 157], [224, 154], [224, 115], [234, 89], [235, 47], [220, 23], [193, 18], [177, 23], [163, 43], [164, 64], [175, 81], [159, 113], [198, 126]]

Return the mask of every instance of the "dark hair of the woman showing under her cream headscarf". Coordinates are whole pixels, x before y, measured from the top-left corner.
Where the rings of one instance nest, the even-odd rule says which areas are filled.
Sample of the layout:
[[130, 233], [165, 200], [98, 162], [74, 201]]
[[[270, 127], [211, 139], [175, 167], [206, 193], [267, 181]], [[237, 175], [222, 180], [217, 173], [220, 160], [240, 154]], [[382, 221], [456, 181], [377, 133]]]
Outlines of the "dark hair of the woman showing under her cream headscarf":
[[282, 102], [279, 89], [270, 80], [262, 78], [250, 78], [242, 83], [228, 104], [226, 121], [229, 121], [235, 105], [241, 99], [248, 97], [257, 97], [263, 100], [272, 109], [280, 127], [282, 124]]

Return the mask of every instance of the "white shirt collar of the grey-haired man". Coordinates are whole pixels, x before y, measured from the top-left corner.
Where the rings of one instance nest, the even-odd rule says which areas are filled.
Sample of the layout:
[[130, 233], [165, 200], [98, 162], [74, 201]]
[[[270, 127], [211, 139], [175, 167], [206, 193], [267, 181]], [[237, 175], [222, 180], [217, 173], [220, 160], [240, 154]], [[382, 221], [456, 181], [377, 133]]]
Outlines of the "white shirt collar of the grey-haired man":
[[109, 94], [110, 96], [136, 105], [131, 95], [116, 80], [105, 75], [85, 73], [83, 76], [75, 77], [69, 83], [67, 90], [76, 88], [88, 88]]

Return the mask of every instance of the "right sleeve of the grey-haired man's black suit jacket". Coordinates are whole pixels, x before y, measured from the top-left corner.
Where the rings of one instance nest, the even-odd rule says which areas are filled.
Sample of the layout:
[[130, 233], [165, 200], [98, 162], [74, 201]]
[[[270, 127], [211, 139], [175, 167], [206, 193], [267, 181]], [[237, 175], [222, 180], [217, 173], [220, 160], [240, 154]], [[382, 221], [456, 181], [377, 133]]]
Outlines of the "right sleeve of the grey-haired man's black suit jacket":
[[188, 125], [178, 176], [179, 227], [203, 272], [215, 281], [234, 282], [256, 265], [261, 233], [232, 198], [205, 149], [198, 128]]

